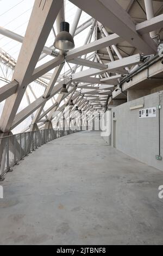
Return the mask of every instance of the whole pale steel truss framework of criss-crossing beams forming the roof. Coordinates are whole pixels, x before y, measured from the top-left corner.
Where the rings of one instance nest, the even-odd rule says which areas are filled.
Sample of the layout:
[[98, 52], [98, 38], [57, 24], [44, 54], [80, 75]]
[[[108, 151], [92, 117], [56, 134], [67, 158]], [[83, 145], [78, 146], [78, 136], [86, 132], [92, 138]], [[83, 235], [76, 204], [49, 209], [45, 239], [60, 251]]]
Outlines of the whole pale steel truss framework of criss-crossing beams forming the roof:
[[[30, 116], [30, 130], [46, 126], [55, 120], [55, 112], [66, 112], [71, 99], [86, 113], [103, 111], [108, 97], [121, 80], [139, 68], [148, 56], [158, 52], [162, 40], [162, 1], [70, 2], [77, 6], [70, 31], [72, 36], [79, 35], [86, 28], [89, 31], [84, 45], [69, 52], [59, 52], [53, 45], [45, 46], [49, 34], [53, 32], [55, 38], [60, 22], [65, 20], [63, 0], [35, 0], [25, 36], [0, 27], [3, 36], [22, 44], [17, 61], [5, 51], [0, 52], [1, 64], [7, 67], [7, 71], [13, 71], [10, 82], [7, 72], [4, 74], [3, 71], [3, 81], [7, 84], [0, 89], [0, 102], [5, 100], [0, 120], [3, 135], [8, 135]], [[83, 11], [91, 17], [79, 25]], [[43, 63], [47, 56], [51, 59]], [[62, 74], [65, 62], [70, 70]], [[66, 96], [59, 94], [63, 80], [68, 88]], [[30, 86], [34, 81], [45, 90], [40, 97], [36, 97]], [[35, 97], [33, 102], [30, 101], [29, 90]], [[25, 94], [28, 106], [18, 111]], [[51, 106], [45, 109], [49, 101]]]

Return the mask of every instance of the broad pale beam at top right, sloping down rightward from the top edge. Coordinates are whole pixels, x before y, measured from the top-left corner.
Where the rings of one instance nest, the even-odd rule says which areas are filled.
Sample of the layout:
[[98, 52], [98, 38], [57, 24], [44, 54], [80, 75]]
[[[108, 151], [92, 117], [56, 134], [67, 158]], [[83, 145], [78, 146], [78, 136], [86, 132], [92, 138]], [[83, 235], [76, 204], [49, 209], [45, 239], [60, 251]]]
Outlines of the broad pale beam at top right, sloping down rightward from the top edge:
[[135, 24], [131, 17], [115, 0], [90, 0], [89, 4], [87, 4], [87, 0], [70, 1], [101, 22], [105, 27], [109, 27], [112, 32], [121, 36], [123, 40], [127, 40], [129, 44], [136, 47], [141, 53], [156, 53], [156, 44], [154, 44], [150, 36], [143, 39], [136, 32]]

